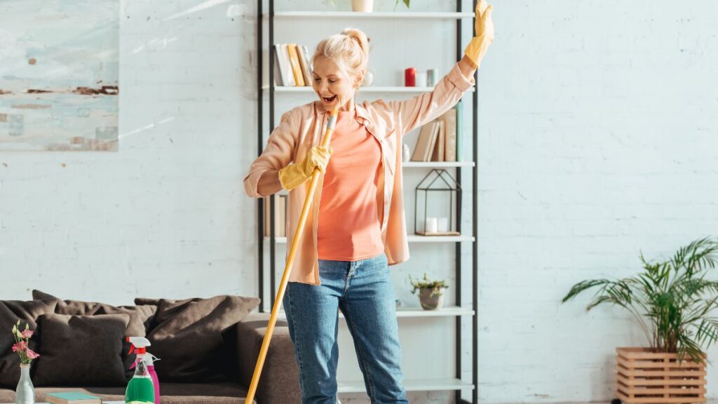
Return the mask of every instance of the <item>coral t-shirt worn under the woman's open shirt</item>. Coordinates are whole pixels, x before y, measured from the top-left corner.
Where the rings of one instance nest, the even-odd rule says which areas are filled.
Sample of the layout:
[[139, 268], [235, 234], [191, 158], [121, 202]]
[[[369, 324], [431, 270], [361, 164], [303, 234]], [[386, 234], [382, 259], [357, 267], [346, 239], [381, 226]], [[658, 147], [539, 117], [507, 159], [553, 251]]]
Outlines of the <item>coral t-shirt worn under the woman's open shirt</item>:
[[358, 261], [384, 251], [376, 206], [381, 147], [355, 112], [339, 112], [330, 142], [317, 224], [321, 260]]

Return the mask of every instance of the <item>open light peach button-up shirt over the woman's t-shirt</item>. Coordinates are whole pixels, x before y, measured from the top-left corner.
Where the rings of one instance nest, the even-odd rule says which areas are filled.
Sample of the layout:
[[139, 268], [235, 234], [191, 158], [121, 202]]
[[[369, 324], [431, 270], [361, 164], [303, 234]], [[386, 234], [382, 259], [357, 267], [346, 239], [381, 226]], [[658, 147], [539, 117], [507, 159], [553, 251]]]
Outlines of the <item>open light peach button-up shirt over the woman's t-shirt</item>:
[[[463, 75], [457, 64], [437, 83], [433, 91], [404, 101], [378, 100], [355, 104], [356, 119], [381, 144], [383, 167], [377, 187], [377, 214], [381, 218], [381, 238], [389, 265], [409, 260], [401, 175], [401, 139], [412, 129], [446, 112], [460, 101], [473, 85], [474, 78]], [[282, 114], [279, 126], [271, 132], [264, 151], [252, 162], [249, 173], [244, 178], [247, 195], [252, 198], [263, 197], [264, 195], [257, 192], [257, 184], [262, 174], [269, 170], [279, 170], [292, 162], [300, 162], [312, 146], [320, 145], [328, 117], [329, 111], [325, 111], [320, 101], [297, 106]], [[317, 216], [323, 180], [322, 174], [302, 239], [299, 240], [289, 282], [320, 285]], [[285, 224], [287, 247], [292, 245], [308, 190], [309, 181], [289, 191]]]

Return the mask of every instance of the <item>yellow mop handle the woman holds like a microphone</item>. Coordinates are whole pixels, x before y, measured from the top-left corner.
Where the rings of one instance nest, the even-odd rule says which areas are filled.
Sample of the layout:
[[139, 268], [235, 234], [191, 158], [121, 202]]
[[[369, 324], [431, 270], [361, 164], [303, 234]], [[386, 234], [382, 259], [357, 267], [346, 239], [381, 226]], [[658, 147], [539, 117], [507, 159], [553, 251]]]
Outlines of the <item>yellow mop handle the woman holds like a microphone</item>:
[[[329, 147], [330, 139], [332, 139], [332, 133], [334, 133], [334, 127], [337, 123], [338, 109], [332, 111], [327, 123], [327, 132], [325, 132], [324, 139], [322, 139], [322, 146]], [[317, 183], [319, 183], [319, 168], [314, 168], [312, 173], [312, 182], [309, 184], [309, 192], [307, 193], [307, 199], [304, 200], [304, 207], [302, 208], [302, 215], [299, 216], [299, 224], [297, 225], [297, 231], [294, 233], [294, 239], [292, 239], [292, 249], [289, 250], [289, 256], [286, 257], [286, 264], [284, 265], [284, 275], [281, 275], [281, 283], [279, 283], [279, 290], [276, 293], [274, 299], [274, 307], [271, 309], [271, 316], [269, 316], [269, 324], [264, 333], [264, 341], [262, 341], [262, 347], [259, 350], [259, 357], [257, 364], [254, 367], [254, 375], [252, 375], [252, 382], [249, 385], [249, 391], [247, 392], [247, 399], [244, 401], [245, 404], [251, 404], [254, 400], [254, 394], [257, 390], [259, 383], [259, 375], [261, 375], [262, 367], [264, 367], [264, 359], [269, 350], [269, 341], [271, 341], [272, 333], [274, 332], [274, 324], [276, 323], [276, 317], [279, 314], [279, 308], [281, 306], [281, 300], [284, 298], [284, 289], [286, 289], [286, 283], [289, 281], [289, 274], [292, 272], [292, 263], [294, 263], [294, 255], [297, 254], [297, 248], [299, 247], [299, 240], [302, 238], [302, 231], [304, 230], [304, 224], [307, 223], [307, 216], [309, 216], [309, 208], [312, 206], [312, 199], [314, 198], [314, 190], [317, 189]]]

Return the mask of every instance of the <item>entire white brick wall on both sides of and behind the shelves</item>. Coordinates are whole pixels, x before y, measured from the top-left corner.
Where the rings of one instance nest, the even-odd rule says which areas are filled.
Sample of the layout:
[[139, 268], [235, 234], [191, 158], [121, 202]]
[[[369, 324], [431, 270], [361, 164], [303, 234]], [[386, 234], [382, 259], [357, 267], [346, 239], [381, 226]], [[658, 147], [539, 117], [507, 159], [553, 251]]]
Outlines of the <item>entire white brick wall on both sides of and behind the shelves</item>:
[[[121, 1], [120, 151], [0, 155], [0, 298], [256, 293], [255, 203], [241, 186], [256, 155], [255, 10]], [[618, 311], [560, 298], [578, 280], [633, 274], [640, 250], [665, 256], [716, 229], [717, 14], [712, 1], [495, 4], [479, 82], [482, 403], [612, 398], [615, 346], [643, 339]], [[406, 300], [406, 275], [451, 254], [412, 247], [393, 272]], [[426, 344], [402, 338], [416, 372]]]

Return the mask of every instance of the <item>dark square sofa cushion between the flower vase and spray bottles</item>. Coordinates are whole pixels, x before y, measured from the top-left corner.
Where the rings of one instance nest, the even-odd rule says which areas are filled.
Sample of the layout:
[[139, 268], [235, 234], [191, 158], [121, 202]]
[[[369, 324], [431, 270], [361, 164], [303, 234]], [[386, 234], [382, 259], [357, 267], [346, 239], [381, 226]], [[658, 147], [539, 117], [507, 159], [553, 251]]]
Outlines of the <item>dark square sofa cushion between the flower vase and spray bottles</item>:
[[123, 386], [122, 341], [127, 314], [38, 318], [42, 344], [33, 383], [37, 386]]

